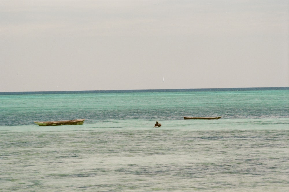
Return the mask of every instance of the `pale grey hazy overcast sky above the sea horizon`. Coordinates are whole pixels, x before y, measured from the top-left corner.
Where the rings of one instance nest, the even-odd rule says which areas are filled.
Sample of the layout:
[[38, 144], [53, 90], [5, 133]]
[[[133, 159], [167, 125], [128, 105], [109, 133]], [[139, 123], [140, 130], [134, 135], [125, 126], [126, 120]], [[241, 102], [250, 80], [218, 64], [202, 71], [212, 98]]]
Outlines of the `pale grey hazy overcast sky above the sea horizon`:
[[1, 0], [0, 92], [289, 87], [288, 0]]

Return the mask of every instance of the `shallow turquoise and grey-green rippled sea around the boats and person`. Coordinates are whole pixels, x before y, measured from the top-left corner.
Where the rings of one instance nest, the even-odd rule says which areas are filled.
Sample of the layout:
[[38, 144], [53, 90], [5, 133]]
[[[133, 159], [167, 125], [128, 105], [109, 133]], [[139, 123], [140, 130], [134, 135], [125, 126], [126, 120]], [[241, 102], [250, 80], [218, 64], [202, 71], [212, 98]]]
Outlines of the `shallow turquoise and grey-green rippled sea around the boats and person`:
[[287, 192], [289, 87], [1, 92], [0, 191]]

